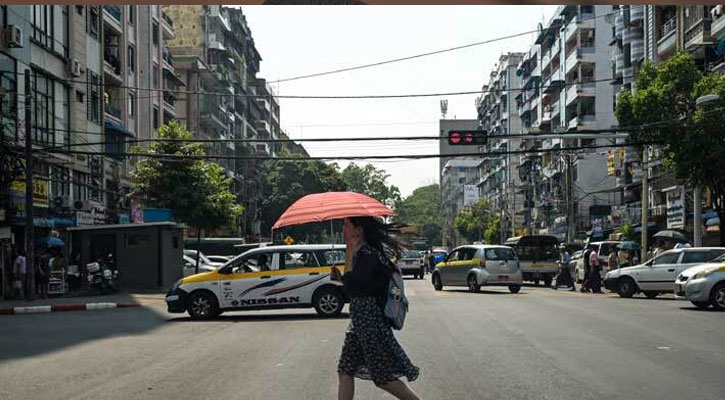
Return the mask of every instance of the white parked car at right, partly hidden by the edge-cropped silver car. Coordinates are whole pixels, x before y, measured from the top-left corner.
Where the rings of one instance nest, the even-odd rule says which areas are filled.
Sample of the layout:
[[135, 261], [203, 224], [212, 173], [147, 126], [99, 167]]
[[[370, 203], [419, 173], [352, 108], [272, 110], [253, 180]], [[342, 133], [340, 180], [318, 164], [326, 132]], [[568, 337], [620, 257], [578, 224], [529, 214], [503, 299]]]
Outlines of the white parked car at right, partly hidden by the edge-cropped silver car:
[[686, 269], [714, 260], [725, 254], [725, 247], [691, 247], [672, 249], [644, 264], [609, 271], [604, 287], [632, 297], [642, 292], [649, 298], [673, 292], [676, 278]]

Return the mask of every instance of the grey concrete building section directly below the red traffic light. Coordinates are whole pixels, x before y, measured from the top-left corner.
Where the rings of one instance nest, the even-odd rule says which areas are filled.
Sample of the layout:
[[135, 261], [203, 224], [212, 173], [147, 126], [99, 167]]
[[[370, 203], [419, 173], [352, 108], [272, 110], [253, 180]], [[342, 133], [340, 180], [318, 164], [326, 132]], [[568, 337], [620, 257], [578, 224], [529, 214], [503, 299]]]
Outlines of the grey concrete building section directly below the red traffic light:
[[450, 248], [464, 244], [464, 240], [453, 229], [453, 221], [464, 209], [464, 186], [478, 183], [478, 169], [481, 160], [454, 158], [446, 161], [441, 172], [441, 209], [445, 224], [443, 244]]

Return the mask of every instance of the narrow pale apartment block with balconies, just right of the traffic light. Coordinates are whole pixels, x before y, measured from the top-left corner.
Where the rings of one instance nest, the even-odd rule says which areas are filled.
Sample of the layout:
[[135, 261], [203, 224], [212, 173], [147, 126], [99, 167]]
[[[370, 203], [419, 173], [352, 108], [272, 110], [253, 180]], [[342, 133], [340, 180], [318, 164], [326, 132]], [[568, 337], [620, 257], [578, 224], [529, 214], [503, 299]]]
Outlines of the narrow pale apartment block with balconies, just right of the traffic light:
[[[479, 148], [481, 152], [506, 152], [518, 147], [518, 140], [501, 136], [521, 131], [515, 99], [522, 86], [517, 70], [524, 56], [524, 53], [508, 53], [499, 57], [489, 74], [488, 83], [482, 87], [481, 97], [476, 100], [481, 129], [491, 136], [486, 145]], [[523, 195], [519, 193], [519, 160], [520, 157], [510, 154], [487, 155], [482, 157], [479, 166], [479, 197], [487, 200], [494, 209], [503, 210], [508, 217], [506, 220], [512, 222], [508, 232], [515, 227], [521, 228], [523, 224], [523, 216], [517, 213], [517, 205], [519, 208], [523, 205]]]

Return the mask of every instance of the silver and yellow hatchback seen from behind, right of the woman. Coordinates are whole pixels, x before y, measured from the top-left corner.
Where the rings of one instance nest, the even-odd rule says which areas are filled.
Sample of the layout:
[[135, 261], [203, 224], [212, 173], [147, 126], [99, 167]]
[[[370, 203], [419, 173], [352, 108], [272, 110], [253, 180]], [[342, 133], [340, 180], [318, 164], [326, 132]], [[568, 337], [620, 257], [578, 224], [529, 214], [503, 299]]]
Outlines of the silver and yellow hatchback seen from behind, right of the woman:
[[468, 286], [478, 292], [481, 286], [507, 286], [511, 293], [521, 290], [523, 275], [519, 259], [509, 246], [469, 245], [455, 248], [436, 265], [433, 288]]

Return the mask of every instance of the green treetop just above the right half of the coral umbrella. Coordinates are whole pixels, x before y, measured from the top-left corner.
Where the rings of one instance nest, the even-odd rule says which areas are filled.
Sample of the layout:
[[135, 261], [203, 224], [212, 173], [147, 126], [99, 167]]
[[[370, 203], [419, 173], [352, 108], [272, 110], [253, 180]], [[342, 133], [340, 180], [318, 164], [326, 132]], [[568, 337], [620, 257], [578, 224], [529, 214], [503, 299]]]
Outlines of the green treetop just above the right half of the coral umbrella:
[[400, 202], [400, 190], [388, 185], [390, 177], [385, 170], [375, 168], [372, 164], [359, 166], [350, 163], [342, 170], [342, 179], [353, 192], [368, 195], [384, 204]]

